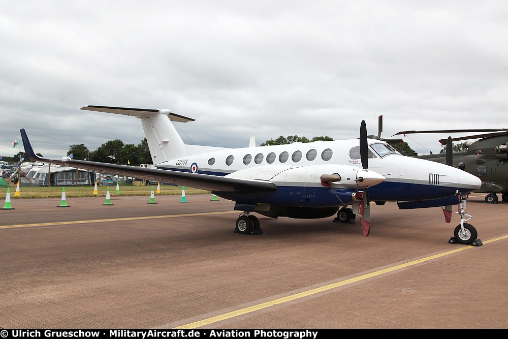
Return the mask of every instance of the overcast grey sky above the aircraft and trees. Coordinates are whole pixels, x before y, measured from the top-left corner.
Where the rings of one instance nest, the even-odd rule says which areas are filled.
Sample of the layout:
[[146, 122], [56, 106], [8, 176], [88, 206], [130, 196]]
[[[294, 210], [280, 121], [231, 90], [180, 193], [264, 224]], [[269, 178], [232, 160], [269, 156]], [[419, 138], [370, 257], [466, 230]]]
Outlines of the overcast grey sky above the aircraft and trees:
[[[171, 109], [184, 142], [508, 128], [506, 1], [0, 0], [0, 155], [139, 144]], [[452, 135], [458, 136], [458, 135]], [[419, 153], [447, 135], [404, 138]], [[189, 140], [190, 138], [190, 140]]]

